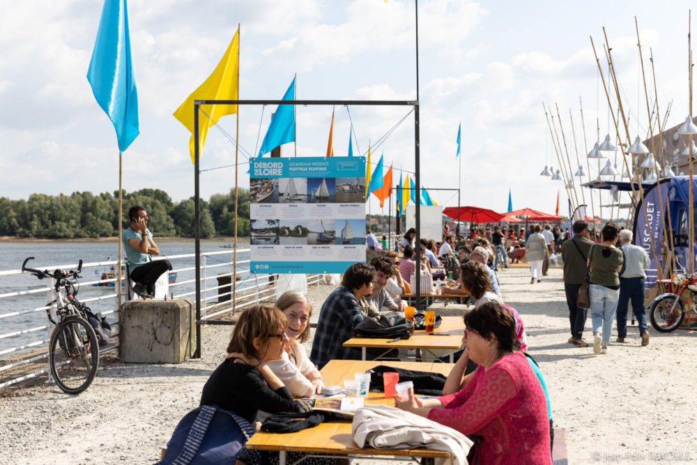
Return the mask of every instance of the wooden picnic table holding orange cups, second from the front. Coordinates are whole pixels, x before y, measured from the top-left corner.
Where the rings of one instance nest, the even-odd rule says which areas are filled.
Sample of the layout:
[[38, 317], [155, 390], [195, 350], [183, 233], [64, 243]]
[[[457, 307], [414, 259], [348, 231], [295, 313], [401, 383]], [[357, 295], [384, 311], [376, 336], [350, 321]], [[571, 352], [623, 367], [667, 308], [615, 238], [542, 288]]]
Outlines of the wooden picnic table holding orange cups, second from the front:
[[[462, 331], [465, 323], [460, 317], [443, 317], [441, 326], [434, 330], [434, 335], [424, 330], [414, 331], [409, 339], [393, 340], [375, 337], [351, 337], [344, 342], [344, 347], [360, 347], [361, 360], [366, 360], [369, 347], [386, 349], [446, 349], [450, 350], [450, 363], [453, 352], [462, 345]], [[383, 353], [384, 355], [384, 353]], [[377, 357], [380, 358], [380, 357]]]

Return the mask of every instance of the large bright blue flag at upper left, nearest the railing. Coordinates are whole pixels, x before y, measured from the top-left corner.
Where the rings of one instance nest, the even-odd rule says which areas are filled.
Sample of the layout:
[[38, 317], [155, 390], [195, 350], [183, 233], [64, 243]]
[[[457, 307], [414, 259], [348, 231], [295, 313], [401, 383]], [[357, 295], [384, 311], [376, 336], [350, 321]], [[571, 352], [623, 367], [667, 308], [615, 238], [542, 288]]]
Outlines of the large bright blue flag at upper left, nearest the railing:
[[97, 103], [114, 123], [118, 151], [125, 151], [140, 133], [126, 0], [104, 2], [87, 81]]

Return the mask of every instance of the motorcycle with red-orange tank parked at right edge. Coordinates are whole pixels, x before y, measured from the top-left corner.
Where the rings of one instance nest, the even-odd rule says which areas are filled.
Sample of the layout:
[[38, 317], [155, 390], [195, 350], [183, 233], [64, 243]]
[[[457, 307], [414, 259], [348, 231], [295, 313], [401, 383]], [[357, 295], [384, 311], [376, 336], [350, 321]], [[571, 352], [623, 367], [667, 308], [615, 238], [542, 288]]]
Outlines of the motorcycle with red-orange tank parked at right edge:
[[675, 330], [685, 318], [685, 303], [682, 295], [689, 293], [690, 309], [697, 307], [697, 274], [677, 273], [671, 277], [675, 293], [666, 292], [654, 298], [648, 307], [651, 325], [660, 333]]

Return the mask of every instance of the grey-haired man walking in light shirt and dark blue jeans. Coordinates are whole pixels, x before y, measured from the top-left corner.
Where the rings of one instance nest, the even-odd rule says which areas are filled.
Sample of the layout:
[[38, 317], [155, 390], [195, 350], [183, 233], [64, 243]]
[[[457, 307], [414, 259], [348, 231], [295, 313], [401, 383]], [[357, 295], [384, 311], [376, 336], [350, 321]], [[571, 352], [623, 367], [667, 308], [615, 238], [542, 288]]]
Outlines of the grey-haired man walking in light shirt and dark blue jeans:
[[627, 337], [627, 305], [631, 299], [631, 310], [639, 323], [641, 345], [649, 344], [649, 327], [644, 310], [644, 290], [646, 268], [650, 266], [649, 254], [638, 245], [631, 243], [629, 229], [620, 231], [620, 250], [624, 257], [620, 271], [620, 298], [617, 304], [617, 342], [625, 342]]

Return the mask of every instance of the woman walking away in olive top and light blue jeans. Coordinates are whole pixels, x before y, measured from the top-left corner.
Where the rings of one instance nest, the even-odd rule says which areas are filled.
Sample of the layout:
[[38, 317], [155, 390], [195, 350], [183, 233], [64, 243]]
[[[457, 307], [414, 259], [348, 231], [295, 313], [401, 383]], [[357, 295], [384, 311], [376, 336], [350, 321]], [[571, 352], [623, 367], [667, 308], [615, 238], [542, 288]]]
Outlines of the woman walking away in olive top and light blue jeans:
[[[593, 323], [593, 353], [607, 353], [620, 297], [622, 251], [615, 247], [620, 229], [615, 223], [607, 223], [602, 230], [602, 242], [590, 248], [590, 318]], [[602, 344], [602, 347], [601, 347]]]

